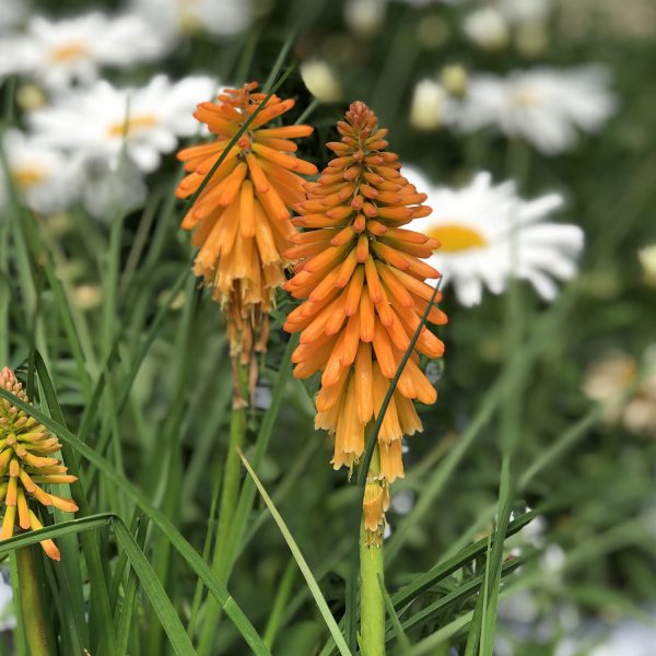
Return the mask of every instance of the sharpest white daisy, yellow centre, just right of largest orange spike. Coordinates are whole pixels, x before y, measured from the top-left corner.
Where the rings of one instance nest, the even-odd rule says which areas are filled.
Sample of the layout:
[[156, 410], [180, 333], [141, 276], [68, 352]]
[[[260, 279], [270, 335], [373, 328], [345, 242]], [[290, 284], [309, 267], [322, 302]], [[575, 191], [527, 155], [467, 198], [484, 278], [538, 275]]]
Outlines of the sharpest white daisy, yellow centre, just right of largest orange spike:
[[479, 173], [461, 189], [435, 188], [411, 167], [403, 167], [403, 175], [429, 195], [433, 213], [411, 227], [442, 243], [429, 262], [444, 274], [445, 284], [454, 285], [462, 305], [479, 304], [484, 288], [501, 294], [511, 277], [528, 280], [544, 301], [552, 301], [558, 294], [552, 278], [576, 274], [583, 231], [544, 221], [562, 206], [559, 194], [525, 201], [514, 183], [493, 185], [489, 173]]

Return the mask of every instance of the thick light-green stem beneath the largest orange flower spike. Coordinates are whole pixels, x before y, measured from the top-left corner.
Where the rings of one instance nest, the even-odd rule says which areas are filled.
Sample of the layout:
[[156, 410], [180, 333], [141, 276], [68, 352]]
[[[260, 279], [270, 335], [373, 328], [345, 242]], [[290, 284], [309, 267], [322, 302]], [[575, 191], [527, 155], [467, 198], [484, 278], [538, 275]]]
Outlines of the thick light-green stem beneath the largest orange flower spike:
[[[374, 449], [370, 475], [379, 472], [378, 446]], [[364, 514], [360, 525], [360, 648], [362, 656], [385, 654], [385, 581], [383, 540], [368, 544]]]

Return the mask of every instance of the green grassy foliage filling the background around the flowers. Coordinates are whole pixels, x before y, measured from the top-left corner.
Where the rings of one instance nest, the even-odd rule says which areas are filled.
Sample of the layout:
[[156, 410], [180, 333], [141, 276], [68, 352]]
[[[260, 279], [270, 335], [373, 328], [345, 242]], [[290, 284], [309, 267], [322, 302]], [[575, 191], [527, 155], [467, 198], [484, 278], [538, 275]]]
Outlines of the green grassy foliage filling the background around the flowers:
[[[294, 96], [293, 119], [316, 127], [303, 156], [321, 167], [344, 107], [315, 102], [295, 63], [333, 57], [344, 99], [371, 103], [401, 160], [435, 180], [485, 168], [516, 179], [527, 197], [566, 191], [563, 220], [582, 225], [587, 243], [579, 277], [552, 305], [522, 283], [470, 309], [445, 291], [440, 399], [420, 409], [424, 432], [408, 440], [407, 477], [393, 488], [413, 504], [388, 514], [382, 590], [389, 654], [454, 647], [491, 656], [500, 635], [517, 654], [553, 654], [564, 629], [548, 640], [531, 629], [559, 609], [645, 620], [656, 599], [656, 445], [608, 421], [582, 391], [604, 353], [620, 349], [640, 362], [654, 342], [654, 289], [636, 255], [656, 242], [656, 95], [646, 65], [654, 46], [602, 19], [585, 36], [566, 33], [569, 10], [559, 9], [544, 59], [606, 62], [622, 108], [576, 151], [544, 157], [492, 131], [414, 130], [413, 84], [440, 66], [506, 71], [532, 60], [516, 44], [477, 51], [442, 5], [388, 4], [379, 33], [356, 37], [341, 3], [271, 3], [246, 34], [219, 45], [190, 39], [169, 72], [267, 80], [271, 92]], [[450, 36], [429, 47], [417, 35], [440, 21]], [[144, 71], [112, 74], [131, 82]], [[15, 91], [16, 80], [0, 86], [3, 127], [22, 120]], [[45, 528], [0, 542], [0, 558], [57, 540], [60, 563], [34, 550], [54, 656], [195, 654], [206, 623], [211, 654], [356, 654], [361, 490], [356, 477], [349, 483], [332, 470], [329, 441], [314, 431], [317, 382], [292, 377], [297, 337], [281, 330], [293, 306], [282, 292], [259, 362], [260, 389], [271, 398], [244, 411], [247, 472], [233, 477], [233, 517], [216, 549], [232, 371], [220, 309], [189, 270], [178, 179], [171, 156], [149, 178], [142, 211], [117, 210], [106, 225], [75, 209], [65, 235], [10, 192], [0, 216], [0, 367], [17, 372], [34, 406], [0, 397], [59, 436], [61, 458], [79, 477], [70, 494], [80, 512], [45, 513]], [[101, 291], [99, 305], [80, 304], [81, 282]], [[514, 631], [520, 618], [507, 609], [526, 594], [534, 618]]]

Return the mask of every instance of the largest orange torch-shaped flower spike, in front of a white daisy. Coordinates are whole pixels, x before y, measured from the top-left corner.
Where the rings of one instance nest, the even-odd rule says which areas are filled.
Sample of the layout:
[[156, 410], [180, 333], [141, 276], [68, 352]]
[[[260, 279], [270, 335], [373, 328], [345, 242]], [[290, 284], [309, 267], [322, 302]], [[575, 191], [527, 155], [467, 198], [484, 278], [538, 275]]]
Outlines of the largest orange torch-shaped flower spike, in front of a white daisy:
[[[391, 378], [410, 345], [440, 278], [422, 261], [438, 243], [401, 226], [430, 214], [421, 194], [401, 175], [398, 156], [386, 151], [387, 130], [374, 113], [353, 103], [338, 124], [337, 155], [317, 183], [306, 183], [307, 199], [295, 206], [293, 222], [306, 229], [292, 237], [290, 258], [300, 258], [285, 289], [305, 302], [284, 325], [301, 331], [293, 354], [294, 375], [321, 372], [315, 425], [335, 435], [336, 469], [350, 470], [365, 447], [365, 427], [377, 418]], [[437, 294], [436, 300], [440, 300]], [[446, 316], [431, 307], [427, 320]], [[365, 526], [379, 539], [388, 484], [403, 476], [403, 435], [422, 430], [412, 401], [433, 403], [436, 391], [419, 367], [419, 354], [440, 358], [444, 345], [425, 326], [406, 364], [378, 434], [379, 473], [365, 490]], [[379, 467], [378, 467], [379, 464]]]

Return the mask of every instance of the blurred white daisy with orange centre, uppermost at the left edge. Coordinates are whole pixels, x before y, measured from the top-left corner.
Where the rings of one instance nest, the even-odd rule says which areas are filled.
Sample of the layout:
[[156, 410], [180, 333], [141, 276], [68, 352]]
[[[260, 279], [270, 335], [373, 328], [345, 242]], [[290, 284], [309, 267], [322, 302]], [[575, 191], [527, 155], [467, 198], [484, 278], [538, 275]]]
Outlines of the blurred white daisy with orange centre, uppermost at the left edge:
[[0, 78], [21, 74], [58, 90], [90, 83], [103, 66], [129, 67], [156, 59], [167, 48], [137, 15], [99, 12], [61, 21], [34, 16], [24, 34], [0, 39]]

